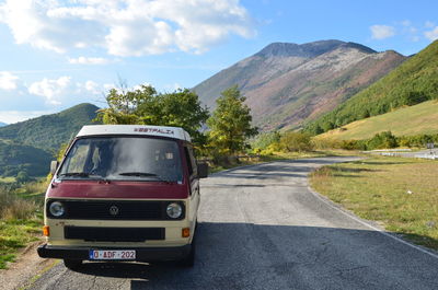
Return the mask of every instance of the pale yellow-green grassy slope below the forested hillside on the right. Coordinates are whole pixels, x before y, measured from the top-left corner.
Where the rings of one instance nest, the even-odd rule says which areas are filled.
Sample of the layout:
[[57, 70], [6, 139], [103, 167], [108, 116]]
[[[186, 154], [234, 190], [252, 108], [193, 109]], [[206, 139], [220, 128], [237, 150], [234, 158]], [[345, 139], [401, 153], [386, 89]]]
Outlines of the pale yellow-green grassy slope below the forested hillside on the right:
[[342, 128], [320, 135], [321, 138], [338, 140], [364, 140], [381, 131], [391, 131], [395, 136], [438, 134], [438, 101], [403, 107], [380, 116], [350, 123]]

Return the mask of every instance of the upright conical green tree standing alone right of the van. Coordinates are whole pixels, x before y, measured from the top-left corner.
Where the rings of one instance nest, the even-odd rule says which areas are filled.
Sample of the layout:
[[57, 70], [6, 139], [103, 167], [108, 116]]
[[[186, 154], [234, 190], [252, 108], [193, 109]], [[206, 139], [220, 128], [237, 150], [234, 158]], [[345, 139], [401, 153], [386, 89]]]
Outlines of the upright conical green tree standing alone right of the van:
[[217, 108], [207, 120], [210, 128], [209, 146], [223, 154], [235, 154], [247, 148], [246, 140], [257, 135], [257, 128], [251, 126], [251, 109], [243, 102], [237, 85], [221, 93], [216, 100]]

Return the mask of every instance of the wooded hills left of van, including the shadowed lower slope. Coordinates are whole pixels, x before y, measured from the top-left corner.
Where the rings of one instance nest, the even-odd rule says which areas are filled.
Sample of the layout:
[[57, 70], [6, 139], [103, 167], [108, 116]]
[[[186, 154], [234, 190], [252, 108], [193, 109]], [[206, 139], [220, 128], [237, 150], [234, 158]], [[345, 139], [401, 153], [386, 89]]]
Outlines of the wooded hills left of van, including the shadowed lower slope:
[[44, 115], [0, 128], [0, 176], [48, 173], [49, 162], [61, 143], [68, 142], [83, 125], [92, 124], [99, 107], [80, 104], [57, 114]]

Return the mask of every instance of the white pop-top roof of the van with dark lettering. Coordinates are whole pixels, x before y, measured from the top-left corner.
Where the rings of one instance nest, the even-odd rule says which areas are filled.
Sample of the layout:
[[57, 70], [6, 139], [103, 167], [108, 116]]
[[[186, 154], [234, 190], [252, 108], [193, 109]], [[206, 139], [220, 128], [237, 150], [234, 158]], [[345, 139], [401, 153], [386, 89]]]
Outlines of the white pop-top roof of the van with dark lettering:
[[99, 135], [146, 135], [191, 141], [191, 136], [183, 128], [147, 125], [88, 125], [82, 127], [77, 137]]

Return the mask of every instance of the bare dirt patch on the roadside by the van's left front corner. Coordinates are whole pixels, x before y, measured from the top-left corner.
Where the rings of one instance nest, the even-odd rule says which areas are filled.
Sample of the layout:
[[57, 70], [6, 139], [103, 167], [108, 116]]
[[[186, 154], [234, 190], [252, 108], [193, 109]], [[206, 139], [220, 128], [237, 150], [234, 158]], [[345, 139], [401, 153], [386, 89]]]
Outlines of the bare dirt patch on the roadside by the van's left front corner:
[[23, 289], [28, 286], [34, 277], [54, 266], [55, 259], [41, 258], [36, 253], [38, 241], [23, 248], [14, 263], [8, 265], [8, 269], [0, 270], [0, 290]]

